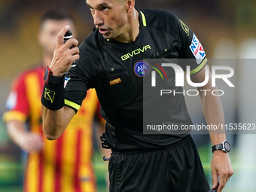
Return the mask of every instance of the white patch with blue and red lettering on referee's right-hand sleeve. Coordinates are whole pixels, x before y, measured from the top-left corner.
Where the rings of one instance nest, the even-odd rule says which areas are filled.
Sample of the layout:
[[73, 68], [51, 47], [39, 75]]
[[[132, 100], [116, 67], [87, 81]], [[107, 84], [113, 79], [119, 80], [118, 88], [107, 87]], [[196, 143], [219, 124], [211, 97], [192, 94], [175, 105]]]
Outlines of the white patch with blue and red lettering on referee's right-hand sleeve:
[[197, 59], [197, 64], [200, 64], [206, 57], [206, 53], [205, 50], [203, 49], [202, 44], [200, 43], [195, 34], [193, 35], [192, 42], [189, 47], [192, 53], [194, 54], [195, 58]]

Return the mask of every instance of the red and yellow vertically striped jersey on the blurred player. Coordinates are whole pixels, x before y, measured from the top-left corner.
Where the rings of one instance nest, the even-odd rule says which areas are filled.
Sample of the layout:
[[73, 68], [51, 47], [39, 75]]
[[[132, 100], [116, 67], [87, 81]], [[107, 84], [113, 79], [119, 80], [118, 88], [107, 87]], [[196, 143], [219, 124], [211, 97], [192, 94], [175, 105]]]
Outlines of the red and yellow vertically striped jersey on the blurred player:
[[25, 192], [93, 192], [96, 183], [91, 158], [93, 117], [99, 108], [95, 90], [87, 97], [59, 139], [48, 141], [42, 133], [41, 94], [44, 68], [24, 72], [14, 81], [3, 118], [29, 120], [29, 130], [41, 133], [44, 149], [28, 155], [24, 179]]

